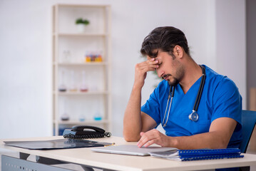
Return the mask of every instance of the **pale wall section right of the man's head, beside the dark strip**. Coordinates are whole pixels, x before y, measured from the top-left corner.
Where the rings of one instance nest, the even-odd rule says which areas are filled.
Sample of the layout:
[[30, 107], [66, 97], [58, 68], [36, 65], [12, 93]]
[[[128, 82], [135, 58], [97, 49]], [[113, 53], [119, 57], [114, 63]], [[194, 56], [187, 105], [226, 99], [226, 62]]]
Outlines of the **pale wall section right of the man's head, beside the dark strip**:
[[216, 1], [216, 71], [236, 83], [243, 98], [244, 108], [246, 108], [245, 14], [245, 1]]

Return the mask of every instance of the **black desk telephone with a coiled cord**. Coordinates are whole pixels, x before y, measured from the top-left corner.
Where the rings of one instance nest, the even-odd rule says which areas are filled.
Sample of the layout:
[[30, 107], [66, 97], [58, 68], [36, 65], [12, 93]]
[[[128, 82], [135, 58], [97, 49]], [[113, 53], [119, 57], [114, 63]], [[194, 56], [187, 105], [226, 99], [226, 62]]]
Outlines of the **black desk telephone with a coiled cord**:
[[73, 126], [72, 129], [65, 129], [63, 137], [68, 139], [104, 138], [111, 137], [111, 133], [102, 128], [94, 126]]

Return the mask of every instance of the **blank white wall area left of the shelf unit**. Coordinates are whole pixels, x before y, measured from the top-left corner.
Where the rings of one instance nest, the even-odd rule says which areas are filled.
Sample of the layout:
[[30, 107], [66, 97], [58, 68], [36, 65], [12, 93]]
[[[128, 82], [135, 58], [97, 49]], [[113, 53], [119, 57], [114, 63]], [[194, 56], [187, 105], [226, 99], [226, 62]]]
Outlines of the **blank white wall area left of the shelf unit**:
[[1, 0], [0, 23], [0, 138], [50, 135], [51, 6]]

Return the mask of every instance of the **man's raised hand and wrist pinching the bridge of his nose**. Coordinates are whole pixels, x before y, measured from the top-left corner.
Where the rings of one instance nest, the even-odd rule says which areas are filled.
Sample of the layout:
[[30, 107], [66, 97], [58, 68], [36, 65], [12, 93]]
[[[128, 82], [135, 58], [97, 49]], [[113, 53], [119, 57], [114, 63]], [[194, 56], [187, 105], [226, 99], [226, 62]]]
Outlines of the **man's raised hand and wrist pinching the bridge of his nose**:
[[134, 86], [142, 88], [145, 83], [145, 78], [148, 71], [155, 71], [155, 68], [158, 68], [158, 60], [155, 58], [149, 58], [148, 61], [142, 63], [137, 63], [135, 65], [135, 81]]

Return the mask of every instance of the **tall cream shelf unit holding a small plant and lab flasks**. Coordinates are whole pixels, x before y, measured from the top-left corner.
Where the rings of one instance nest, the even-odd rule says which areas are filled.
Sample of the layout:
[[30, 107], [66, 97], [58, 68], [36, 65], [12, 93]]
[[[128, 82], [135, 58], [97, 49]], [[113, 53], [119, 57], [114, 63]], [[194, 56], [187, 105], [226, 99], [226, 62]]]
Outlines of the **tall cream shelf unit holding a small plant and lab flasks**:
[[[73, 125], [111, 131], [111, 6], [56, 4], [52, 13], [53, 135]], [[90, 21], [83, 33], [78, 18]], [[86, 61], [88, 53], [101, 61]]]

